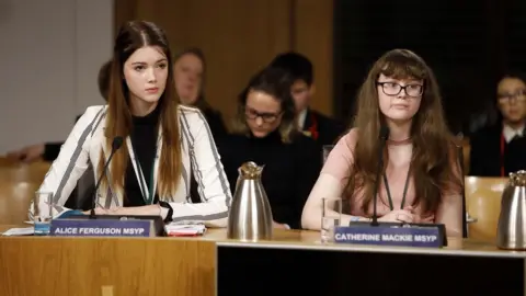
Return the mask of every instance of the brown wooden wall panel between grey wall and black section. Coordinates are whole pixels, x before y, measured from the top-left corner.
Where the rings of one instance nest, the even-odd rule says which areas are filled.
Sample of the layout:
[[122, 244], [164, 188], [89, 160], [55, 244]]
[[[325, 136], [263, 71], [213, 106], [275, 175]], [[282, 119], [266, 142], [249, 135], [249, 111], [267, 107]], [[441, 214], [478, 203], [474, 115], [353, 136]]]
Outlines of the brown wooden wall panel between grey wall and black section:
[[207, 57], [207, 100], [231, 117], [251, 75], [278, 53], [315, 64], [312, 106], [332, 113], [332, 9], [329, 0], [114, 0], [115, 30], [128, 20], [162, 26], [172, 48], [198, 46]]

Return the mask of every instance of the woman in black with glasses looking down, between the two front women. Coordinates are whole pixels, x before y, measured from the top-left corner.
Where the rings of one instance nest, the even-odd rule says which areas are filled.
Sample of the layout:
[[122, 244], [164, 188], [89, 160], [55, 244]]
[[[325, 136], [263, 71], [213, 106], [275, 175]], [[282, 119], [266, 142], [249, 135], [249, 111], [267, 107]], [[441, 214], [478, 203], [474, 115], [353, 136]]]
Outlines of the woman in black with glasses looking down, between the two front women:
[[265, 68], [239, 95], [233, 134], [218, 141], [232, 193], [247, 161], [265, 166], [262, 183], [275, 227], [299, 228], [301, 210], [321, 169], [321, 149], [296, 125], [291, 79]]

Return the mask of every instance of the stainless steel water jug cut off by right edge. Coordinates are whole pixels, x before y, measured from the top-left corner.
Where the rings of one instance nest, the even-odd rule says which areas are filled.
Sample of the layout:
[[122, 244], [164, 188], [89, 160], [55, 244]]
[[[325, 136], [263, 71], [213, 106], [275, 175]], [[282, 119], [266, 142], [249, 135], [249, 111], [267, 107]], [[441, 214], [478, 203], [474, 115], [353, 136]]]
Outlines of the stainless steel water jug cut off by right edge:
[[502, 193], [496, 246], [508, 250], [526, 249], [526, 171], [510, 173]]

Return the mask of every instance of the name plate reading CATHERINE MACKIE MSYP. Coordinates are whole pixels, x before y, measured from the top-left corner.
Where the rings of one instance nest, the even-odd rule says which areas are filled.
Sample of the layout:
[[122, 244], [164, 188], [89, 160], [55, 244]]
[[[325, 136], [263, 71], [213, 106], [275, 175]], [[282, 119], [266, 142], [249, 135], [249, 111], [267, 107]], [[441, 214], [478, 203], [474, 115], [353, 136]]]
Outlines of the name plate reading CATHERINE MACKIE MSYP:
[[377, 246], [401, 246], [441, 248], [444, 246], [444, 232], [438, 226], [357, 224], [338, 226], [334, 229], [334, 242]]

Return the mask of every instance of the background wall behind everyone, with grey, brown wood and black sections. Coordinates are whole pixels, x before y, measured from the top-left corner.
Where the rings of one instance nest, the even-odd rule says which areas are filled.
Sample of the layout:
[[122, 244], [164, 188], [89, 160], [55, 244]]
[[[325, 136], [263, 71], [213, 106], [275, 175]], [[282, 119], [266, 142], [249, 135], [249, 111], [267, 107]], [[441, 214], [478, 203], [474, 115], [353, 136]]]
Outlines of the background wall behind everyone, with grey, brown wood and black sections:
[[99, 67], [134, 19], [164, 27], [175, 50], [204, 49], [207, 100], [227, 122], [250, 76], [290, 49], [315, 65], [312, 106], [348, 121], [371, 62], [404, 47], [435, 70], [450, 127], [466, 132], [494, 109], [499, 76], [525, 68], [524, 15], [522, 0], [0, 0], [0, 153], [65, 139], [103, 102]]

